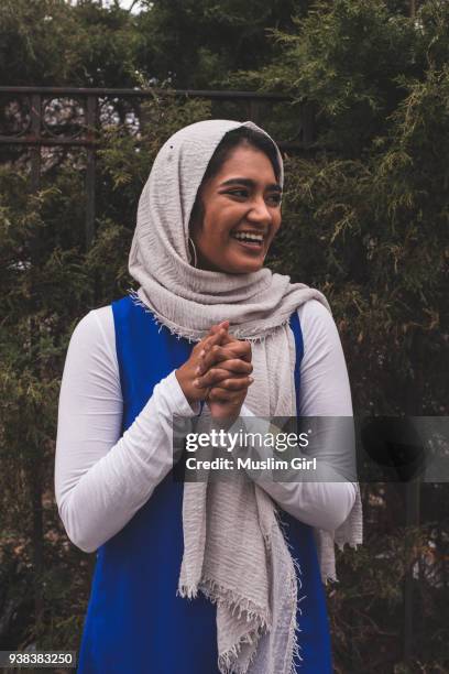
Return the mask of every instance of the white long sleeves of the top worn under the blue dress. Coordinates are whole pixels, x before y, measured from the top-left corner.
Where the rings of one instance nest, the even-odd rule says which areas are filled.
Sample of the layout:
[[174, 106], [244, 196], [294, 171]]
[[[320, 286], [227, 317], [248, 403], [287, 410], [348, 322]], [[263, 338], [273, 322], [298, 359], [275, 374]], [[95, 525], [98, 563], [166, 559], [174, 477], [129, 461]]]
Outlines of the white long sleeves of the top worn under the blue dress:
[[[313, 300], [298, 309], [304, 340], [303, 416], [352, 416], [340, 338], [329, 312]], [[154, 354], [157, 358], [157, 354]], [[68, 537], [94, 552], [151, 498], [173, 466], [173, 415], [193, 417], [173, 370], [121, 435], [123, 399], [111, 306], [76, 326], [67, 351], [58, 411], [55, 491]], [[241, 416], [251, 415], [244, 405]], [[355, 500], [350, 481], [264, 482], [270, 496], [298, 520], [332, 531]]]

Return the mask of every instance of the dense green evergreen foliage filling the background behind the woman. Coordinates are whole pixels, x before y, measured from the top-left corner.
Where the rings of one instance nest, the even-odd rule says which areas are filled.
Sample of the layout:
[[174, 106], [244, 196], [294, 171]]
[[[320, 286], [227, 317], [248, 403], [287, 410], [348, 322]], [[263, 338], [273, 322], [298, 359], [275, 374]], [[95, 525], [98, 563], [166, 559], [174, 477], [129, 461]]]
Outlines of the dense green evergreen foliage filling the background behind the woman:
[[[53, 496], [57, 398], [70, 334], [132, 285], [140, 191], [161, 144], [230, 106], [164, 89], [280, 91], [263, 126], [315, 140], [285, 157], [272, 269], [322, 290], [343, 341], [357, 414], [448, 414], [449, 6], [426, 0], [169, 0], [123, 11], [94, 0], [0, 4], [3, 85], [162, 87], [140, 134], [103, 126], [96, 237], [84, 240], [85, 156], [0, 163], [0, 648], [79, 645], [92, 557], [64, 534]], [[410, 15], [412, 14], [412, 15]], [[6, 107], [0, 106], [0, 123]], [[446, 483], [423, 485], [405, 529], [404, 485], [363, 485], [365, 544], [338, 553], [328, 588], [336, 672], [449, 672]], [[404, 657], [403, 586], [414, 643]]]

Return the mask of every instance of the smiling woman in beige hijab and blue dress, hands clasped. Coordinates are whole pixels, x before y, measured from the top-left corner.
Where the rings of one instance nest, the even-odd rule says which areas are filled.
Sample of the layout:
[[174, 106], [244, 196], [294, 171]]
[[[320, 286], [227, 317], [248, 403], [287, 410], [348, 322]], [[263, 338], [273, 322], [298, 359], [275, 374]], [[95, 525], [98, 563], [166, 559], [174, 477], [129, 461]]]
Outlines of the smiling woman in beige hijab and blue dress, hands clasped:
[[183, 485], [172, 471], [174, 415], [210, 428], [352, 416], [326, 298], [264, 267], [282, 186], [281, 153], [252, 122], [180, 129], [139, 203], [139, 291], [73, 334], [55, 486], [69, 537], [97, 551], [81, 674], [332, 671], [322, 581], [333, 544], [361, 543], [353, 475]]

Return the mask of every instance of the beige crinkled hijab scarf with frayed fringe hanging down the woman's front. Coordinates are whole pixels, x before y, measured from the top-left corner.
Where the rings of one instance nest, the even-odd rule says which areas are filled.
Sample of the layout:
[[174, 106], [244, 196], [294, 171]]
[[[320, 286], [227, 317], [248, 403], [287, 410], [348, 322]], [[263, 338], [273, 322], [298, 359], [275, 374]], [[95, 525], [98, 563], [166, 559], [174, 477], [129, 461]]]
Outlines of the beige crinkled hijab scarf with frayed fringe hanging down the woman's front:
[[[296, 355], [288, 319], [310, 298], [330, 311], [324, 295], [269, 269], [227, 274], [189, 263], [188, 227], [198, 187], [223, 135], [241, 126], [265, 133], [250, 121], [208, 120], [182, 129], [163, 145], [139, 203], [129, 269], [140, 284], [134, 300], [172, 333], [200, 340], [212, 324], [228, 318], [236, 337], [253, 343], [255, 383], [245, 405], [259, 416], [293, 416]], [[206, 428], [209, 422], [205, 407], [201, 424]], [[325, 581], [336, 579], [335, 543], [362, 542], [355, 486], [357, 501], [343, 525], [333, 534], [316, 530]], [[297, 575], [272, 499], [239, 476], [186, 483], [183, 525], [178, 591], [195, 597], [200, 590], [217, 605], [220, 672], [294, 672], [295, 656], [300, 657]]]

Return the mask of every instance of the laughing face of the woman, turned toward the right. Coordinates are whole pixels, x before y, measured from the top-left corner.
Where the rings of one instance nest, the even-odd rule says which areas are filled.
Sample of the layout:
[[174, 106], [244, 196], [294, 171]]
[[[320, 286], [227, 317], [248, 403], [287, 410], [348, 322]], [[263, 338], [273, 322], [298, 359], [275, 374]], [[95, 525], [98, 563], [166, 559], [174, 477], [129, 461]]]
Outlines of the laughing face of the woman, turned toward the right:
[[237, 146], [199, 193], [202, 222], [194, 222], [198, 268], [243, 274], [263, 267], [281, 226], [281, 186], [266, 154]]

